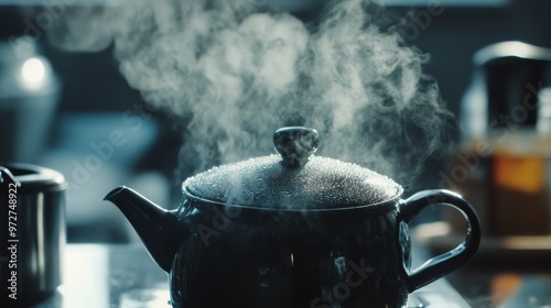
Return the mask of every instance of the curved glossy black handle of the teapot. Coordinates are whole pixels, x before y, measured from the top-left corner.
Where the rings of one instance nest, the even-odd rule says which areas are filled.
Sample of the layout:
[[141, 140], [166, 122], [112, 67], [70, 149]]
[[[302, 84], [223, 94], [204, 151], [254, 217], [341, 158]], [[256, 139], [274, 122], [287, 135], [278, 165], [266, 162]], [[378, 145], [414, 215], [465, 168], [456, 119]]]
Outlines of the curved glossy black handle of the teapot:
[[465, 241], [455, 249], [430, 258], [423, 265], [407, 274], [406, 284], [410, 293], [460, 268], [471, 260], [480, 243], [478, 216], [467, 201], [450, 190], [423, 190], [406, 200], [401, 200], [398, 221], [409, 223], [422, 209], [439, 204], [452, 206], [463, 213], [468, 223]]

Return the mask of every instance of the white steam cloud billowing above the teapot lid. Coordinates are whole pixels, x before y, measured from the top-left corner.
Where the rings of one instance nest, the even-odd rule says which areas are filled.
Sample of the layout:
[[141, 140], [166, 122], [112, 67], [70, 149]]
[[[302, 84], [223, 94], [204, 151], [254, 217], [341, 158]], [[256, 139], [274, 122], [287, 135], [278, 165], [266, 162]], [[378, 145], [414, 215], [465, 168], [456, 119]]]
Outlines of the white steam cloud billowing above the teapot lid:
[[451, 117], [422, 73], [429, 57], [382, 31], [368, 1], [339, 1], [315, 24], [256, 2], [73, 9], [51, 40], [71, 51], [115, 44], [120, 70], [151, 106], [191, 119], [187, 173], [267, 155], [276, 129], [306, 125], [323, 138], [320, 155], [410, 184]]

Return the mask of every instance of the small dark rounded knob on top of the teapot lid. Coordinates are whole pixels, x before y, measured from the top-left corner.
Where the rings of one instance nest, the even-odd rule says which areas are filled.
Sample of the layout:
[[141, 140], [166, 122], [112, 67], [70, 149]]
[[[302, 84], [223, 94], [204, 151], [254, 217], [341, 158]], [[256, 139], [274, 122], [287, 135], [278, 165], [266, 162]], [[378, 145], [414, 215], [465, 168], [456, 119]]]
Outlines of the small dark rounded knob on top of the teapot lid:
[[289, 168], [299, 168], [307, 163], [320, 145], [317, 131], [302, 127], [282, 128], [273, 134], [273, 145], [281, 157], [282, 164]]

